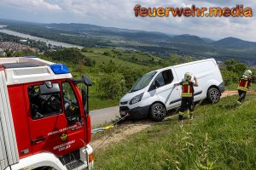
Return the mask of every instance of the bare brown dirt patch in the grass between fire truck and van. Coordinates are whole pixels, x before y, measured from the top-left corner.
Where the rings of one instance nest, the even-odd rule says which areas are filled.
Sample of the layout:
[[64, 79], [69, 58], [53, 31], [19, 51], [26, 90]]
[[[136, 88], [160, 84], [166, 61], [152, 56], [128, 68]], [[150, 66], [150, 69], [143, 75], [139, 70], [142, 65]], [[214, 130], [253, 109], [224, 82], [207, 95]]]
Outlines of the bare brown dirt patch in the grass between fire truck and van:
[[109, 145], [119, 143], [120, 140], [125, 139], [134, 133], [141, 132], [148, 127], [150, 127], [150, 125], [146, 124], [145, 122], [141, 122], [137, 124], [125, 123], [124, 125], [114, 127], [108, 133], [97, 136], [95, 140], [92, 139], [92, 141], [90, 142], [90, 145], [95, 150], [104, 149]]

